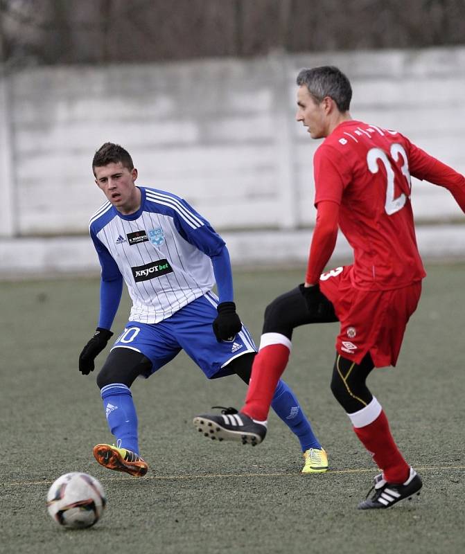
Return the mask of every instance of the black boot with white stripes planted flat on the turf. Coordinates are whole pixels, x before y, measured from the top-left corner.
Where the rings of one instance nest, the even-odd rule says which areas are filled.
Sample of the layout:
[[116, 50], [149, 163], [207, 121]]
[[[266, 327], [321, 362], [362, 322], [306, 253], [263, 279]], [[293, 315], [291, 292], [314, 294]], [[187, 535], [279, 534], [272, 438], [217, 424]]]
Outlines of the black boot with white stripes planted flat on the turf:
[[[367, 499], [360, 502], [358, 505], [359, 510], [372, 510], [376, 508], [391, 508], [394, 504], [401, 500], [412, 500], [414, 494], [420, 494], [420, 489], [423, 485], [419, 474], [410, 467], [410, 474], [405, 483], [387, 483], [383, 479], [383, 475], [377, 475], [374, 479], [374, 487], [372, 487], [368, 494]], [[374, 490], [374, 495], [371, 499], [368, 499], [370, 492]]]

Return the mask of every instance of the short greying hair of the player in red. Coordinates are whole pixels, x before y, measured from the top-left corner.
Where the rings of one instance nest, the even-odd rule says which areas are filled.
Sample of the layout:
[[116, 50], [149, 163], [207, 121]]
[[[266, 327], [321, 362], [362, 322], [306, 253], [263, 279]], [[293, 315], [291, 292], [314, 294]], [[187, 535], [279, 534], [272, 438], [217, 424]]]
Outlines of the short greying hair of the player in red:
[[318, 101], [329, 96], [336, 102], [339, 111], [348, 111], [351, 105], [352, 87], [346, 75], [332, 65], [302, 69], [297, 75], [297, 84], [305, 85]]

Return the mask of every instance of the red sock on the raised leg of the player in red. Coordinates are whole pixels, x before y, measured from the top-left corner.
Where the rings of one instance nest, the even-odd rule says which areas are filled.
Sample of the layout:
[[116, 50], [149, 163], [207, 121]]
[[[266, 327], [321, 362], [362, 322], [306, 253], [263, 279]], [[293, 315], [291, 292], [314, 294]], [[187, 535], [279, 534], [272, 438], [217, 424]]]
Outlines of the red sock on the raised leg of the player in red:
[[290, 350], [283, 344], [261, 348], [254, 359], [245, 404], [241, 412], [258, 421], [265, 421], [278, 381], [286, 369]]

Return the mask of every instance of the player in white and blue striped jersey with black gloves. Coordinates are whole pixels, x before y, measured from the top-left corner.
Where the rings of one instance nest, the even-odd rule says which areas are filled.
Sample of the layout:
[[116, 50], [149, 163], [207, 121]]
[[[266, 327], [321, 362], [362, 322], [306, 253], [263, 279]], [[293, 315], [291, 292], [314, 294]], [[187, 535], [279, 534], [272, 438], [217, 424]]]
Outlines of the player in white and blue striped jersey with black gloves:
[[[225, 241], [209, 222], [176, 195], [136, 186], [137, 169], [120, 145], [101, 146], [92, 170], [107, 197], [89, 227], [101, 266], [100, 315], [79, 369], [84, 375], [94, 370], [112, 337], [124, 281], [132, 298], [129, 321], [97, 376], [116, 446], [96, 445], [94, 456], [111, 470], [143, 476], [148, 464], [139, 452], [134, 379], [149, 377], [185, 350], [209, 379], [236, 373], [248, 383], [256, 347], [236, 314]], [[313, 454], [324, 450], [282, 381], [272, 407], [299, 438], [303, 472], [316, 472]]]

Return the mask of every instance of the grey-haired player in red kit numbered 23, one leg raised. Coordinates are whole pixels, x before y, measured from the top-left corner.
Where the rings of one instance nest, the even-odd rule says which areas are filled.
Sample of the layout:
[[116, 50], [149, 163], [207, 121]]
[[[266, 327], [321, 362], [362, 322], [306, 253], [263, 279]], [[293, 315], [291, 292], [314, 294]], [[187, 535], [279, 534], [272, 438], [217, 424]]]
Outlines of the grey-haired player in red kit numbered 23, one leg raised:
[[[425, 277], [410, 175], [450, 190], [464, 212], [465, 178], [402, 134], [353, 120], [351, 85], [339, 69], [304, 69], [297, 85], [297, 121], [313, 139], [324, 139], [314, 157], [317, 222], [305, 283], [267, 306], [243, 408], [235, 414], [230, 409], [228, 414], [200, 415], [194, 423], [209, 436], [260, 443], [274, 388], [290, 355], [292, 330], [340, 321], [331, 391], [381, 470], [374, 494], [358, 508], [389, 508], [422, 485], [366, 384], [373, 368], [396, 365]], [[353, 265], [322, 273], [338, 228], [353, 249]]]

